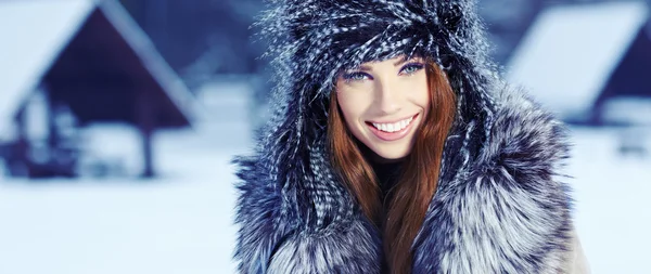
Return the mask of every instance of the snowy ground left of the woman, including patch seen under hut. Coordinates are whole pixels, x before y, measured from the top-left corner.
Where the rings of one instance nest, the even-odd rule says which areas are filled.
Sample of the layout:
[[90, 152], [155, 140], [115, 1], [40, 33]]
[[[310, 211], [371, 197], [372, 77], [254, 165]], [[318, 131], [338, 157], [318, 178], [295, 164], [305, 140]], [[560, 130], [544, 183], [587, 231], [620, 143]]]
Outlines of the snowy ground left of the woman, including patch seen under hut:
[[[0, 273], [234, 273], [230, 160], [248, 153], [251, 133], [207, 118], [155, 133], [153, 180], [0, 177]], [[93, 125], [84, 135], [93, 156], [141, 167], [135, 129]]]

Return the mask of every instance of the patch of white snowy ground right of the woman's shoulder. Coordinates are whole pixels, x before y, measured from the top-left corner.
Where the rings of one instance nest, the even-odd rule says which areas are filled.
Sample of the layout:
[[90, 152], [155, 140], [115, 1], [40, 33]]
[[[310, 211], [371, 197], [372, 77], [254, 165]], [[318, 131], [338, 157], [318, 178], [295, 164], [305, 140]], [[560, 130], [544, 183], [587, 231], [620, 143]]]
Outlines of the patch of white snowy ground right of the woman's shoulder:
[[[651, 273], [651, 155], [616, 153], [617, 130], [573, 130], [576, 229], [593, 274]], [[647, 149], [651, 138], [643, 139]]]

